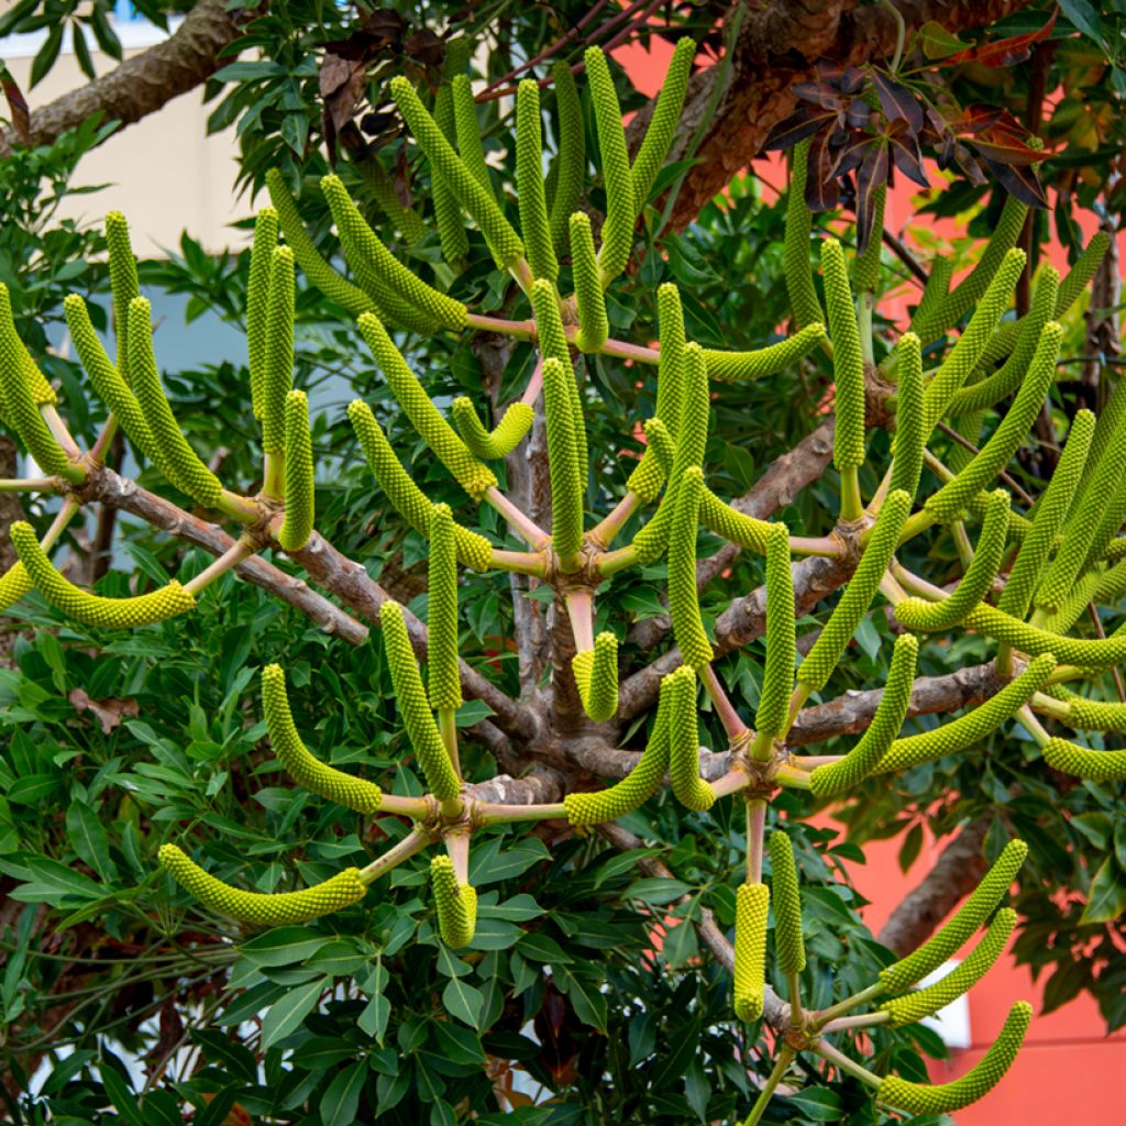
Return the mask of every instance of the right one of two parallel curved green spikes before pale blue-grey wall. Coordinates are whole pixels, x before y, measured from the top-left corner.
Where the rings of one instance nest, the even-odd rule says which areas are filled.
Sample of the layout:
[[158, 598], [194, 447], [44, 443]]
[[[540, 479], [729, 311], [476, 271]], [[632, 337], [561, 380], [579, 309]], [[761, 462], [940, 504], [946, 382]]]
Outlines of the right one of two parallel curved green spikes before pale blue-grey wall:
[[152, 310], [144, 297], [129, 303], [129, 370], [133, 394], [152, 435], [152, 459], [180, 492], [205, 508], [217, 508], [223, 485], [188, 445], [164, 396], [152, 350]]

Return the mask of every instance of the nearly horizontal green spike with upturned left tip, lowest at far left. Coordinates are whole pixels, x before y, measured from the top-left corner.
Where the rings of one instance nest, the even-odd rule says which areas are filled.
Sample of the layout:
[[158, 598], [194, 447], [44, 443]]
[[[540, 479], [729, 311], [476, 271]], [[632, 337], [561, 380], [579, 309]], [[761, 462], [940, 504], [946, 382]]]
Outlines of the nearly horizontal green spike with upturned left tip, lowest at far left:
[[238, 887], [231, 887], [209, 876], [175, 844], [161, 844], [160, 864], [204, 906], [227, 919], [239, 919], [260, 927], [282, 927], [332, 914], [333, 911], [358, 903], [367, 891], [360, 879], [359, 868], [346, 868], [323, 884], [314, 884], [300, 892], [262, 895], [258, 892], [241, 892]]

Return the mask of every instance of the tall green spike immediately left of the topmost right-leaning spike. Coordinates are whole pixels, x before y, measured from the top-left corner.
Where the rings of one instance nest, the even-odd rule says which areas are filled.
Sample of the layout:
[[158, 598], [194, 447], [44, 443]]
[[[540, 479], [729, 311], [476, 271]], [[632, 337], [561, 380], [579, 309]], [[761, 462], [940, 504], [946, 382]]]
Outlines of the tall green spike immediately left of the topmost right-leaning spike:
[[606, 55], [599, 47], [588, 47], [583, 61], [587, 64], [590, 100], [595, 107], [598, 151], [602, 159], [602, 185], [606, 189], [606, 222], [602, 224], [602, 249], [598, 254], [598, 268], [605, 289], [626, 268], [629, 260], [637, 204], [634, 199], [626, 134], [622, 127], [622, 107], [618, 105], [618, 92], [614, 89]]

